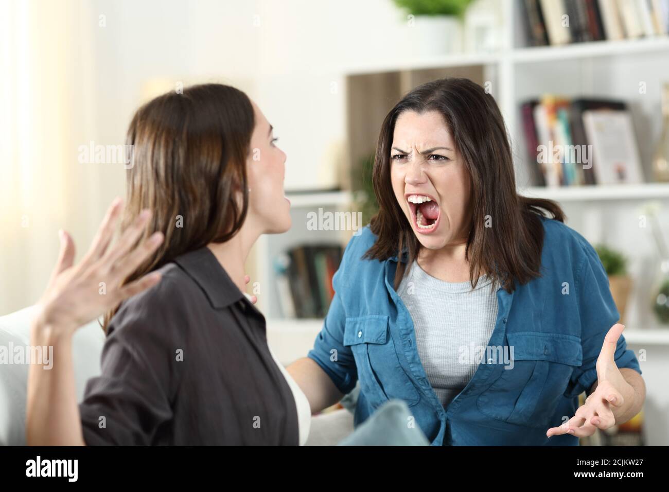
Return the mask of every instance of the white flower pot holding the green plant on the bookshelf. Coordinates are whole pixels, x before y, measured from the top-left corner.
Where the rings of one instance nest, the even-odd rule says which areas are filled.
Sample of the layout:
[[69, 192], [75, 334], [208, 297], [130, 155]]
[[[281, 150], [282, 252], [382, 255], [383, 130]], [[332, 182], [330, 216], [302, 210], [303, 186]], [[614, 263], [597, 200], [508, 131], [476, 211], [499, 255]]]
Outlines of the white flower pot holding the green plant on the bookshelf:
[[413, 56], [429, 57], [462, 52], [462, 23], [450, 15], [417, 15], [409, 24]]

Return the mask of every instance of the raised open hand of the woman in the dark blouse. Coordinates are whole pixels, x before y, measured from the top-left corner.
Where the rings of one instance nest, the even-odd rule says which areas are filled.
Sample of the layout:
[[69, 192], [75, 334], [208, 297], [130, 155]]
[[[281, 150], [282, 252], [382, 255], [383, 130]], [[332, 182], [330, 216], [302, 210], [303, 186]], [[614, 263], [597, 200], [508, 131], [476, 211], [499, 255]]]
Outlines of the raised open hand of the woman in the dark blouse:
[[159, 282], [160, 274], [151, 272], [121, 286], [124, 278], [163, 242], [163, 234], [155, 232], [134, 246], [151, 218], [151, 211], [147, 209], [123, 232], [118, 242], [110, 246], [122, 202], [120, 198], [113, 201], [88, 253], [77, 265], [73, 265], [74, 242], [67, 232], [60, 231], [58, 262], [46, 291], [37, 303], [35, 322], [38, 325], [58, 329], [59, 333], [72, 333], [124, 299]]

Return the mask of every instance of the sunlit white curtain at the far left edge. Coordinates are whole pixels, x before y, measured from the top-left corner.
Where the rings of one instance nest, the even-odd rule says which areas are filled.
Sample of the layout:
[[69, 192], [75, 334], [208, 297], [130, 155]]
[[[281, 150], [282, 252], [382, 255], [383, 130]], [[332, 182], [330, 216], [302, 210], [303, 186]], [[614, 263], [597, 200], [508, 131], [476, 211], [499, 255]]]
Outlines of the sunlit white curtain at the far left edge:
[[79, 253], [97, 208], [96, 170], [78, 163], [93, 127], [86, 1], [0, 0], [0, 315], [34, 303], [58, 255]]

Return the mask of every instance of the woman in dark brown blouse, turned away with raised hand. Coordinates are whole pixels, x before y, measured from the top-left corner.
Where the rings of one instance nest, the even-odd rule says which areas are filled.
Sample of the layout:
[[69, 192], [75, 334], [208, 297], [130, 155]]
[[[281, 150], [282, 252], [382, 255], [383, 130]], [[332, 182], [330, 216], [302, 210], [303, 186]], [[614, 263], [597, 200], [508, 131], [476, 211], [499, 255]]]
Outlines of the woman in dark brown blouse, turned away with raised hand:
[[[290, 228], [274, 141], [258, 106], [220, 84], [136, 112], [120, 239], [119, 200], [76, 266], [62, 233], [38, 303], [31, 343], [56, 363], [29, 368], [29, 444], [298, 444], [294, 397], [243, 294], [251, 246]], [[78, 405], [72, 335], [104, 312], [102, 374]]]

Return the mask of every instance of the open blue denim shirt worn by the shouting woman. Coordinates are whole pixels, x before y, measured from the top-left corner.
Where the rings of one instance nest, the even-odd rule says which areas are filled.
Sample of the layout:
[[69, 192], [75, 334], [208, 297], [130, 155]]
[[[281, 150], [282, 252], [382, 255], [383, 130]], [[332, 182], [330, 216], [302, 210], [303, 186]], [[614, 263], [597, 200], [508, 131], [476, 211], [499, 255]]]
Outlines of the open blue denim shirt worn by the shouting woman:
[[[524, 285], [516, 280], [511, 294], [498, 289], [488, 351], [446, 409], [427, 381], [411, 316], [393, 288], [398, 257], [361, 258], [376, 240], [369, 226], [351, 238], [308, 357], [343, 394], [360, 381], [355, 426], [399, 398], [432, 445], [578, 444], [576, 436], [547, 438], [546, 431], [562, 424], [563, 416], [571, 418], [579, 394], [597, 381], [597, 356], [619, 313], [594, 248], [562, 222], [541, 221], [542, 276]], [[497, 356], [503, 353], [512, 355], [512, 362]], [[615, 362], [641, 374], [623, 336]]]

